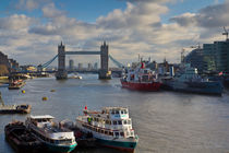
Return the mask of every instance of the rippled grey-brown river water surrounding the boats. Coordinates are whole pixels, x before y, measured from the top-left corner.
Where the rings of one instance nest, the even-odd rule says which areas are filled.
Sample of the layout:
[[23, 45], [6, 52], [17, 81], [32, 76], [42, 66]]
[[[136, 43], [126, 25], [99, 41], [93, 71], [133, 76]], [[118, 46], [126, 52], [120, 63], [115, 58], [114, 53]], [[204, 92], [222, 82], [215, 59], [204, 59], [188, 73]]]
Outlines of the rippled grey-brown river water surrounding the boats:
[[[126, 106], [140, 142], [135, 153], [228, 153], [229, 91], [222, 96], [174, 92], [135, 92], [122, 89], [119, 79], [100, 81], [55, 78], [27, 80], [25, 94], [0, 87], [5, 104], [31, 104], [32, 115], [52, 115], [57, 121], [75, 120], [82, 109]], [[56, 90], [56, 92], [50, 92]], [[47, 96], [48, 101], [41, 101]], [[14, 151], [4, 140], [4, 126], [27, 115], [0, 115], [0, 153]], [[117, 150], [75, 150], [74, 153], [119, 153]]]

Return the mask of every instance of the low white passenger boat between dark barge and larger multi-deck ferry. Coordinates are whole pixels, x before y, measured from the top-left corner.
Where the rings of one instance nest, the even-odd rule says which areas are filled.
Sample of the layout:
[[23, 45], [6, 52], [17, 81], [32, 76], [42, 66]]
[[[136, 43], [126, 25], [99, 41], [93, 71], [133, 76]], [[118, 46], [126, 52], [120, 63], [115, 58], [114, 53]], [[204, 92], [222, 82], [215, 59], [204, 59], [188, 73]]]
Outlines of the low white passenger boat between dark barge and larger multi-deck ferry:
[[32, 131], [48, 151], [69, 153], [75, 149], [76, 142], [73, 131], [61, 128], [52, 121], [50, 115], [31, 116], [25, 121], [26, 128]]

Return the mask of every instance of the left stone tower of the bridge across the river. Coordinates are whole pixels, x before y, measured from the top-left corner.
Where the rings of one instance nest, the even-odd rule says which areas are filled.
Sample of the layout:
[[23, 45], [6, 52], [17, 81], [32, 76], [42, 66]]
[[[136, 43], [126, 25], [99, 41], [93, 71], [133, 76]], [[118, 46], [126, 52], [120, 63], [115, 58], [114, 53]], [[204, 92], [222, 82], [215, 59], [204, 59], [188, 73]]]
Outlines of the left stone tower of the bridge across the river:
[[61, 44], [58, 46], [58, 72], [56, 74], [57, 80], [68, 79], [65, 70], [65, 46]]

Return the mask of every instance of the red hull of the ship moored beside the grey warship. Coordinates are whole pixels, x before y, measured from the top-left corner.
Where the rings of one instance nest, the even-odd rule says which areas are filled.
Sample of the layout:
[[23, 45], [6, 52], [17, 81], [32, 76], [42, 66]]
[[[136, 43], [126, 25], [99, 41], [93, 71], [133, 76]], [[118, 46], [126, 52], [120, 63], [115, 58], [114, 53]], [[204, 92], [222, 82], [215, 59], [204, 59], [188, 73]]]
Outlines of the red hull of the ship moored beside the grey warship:
[[159, 82], [150, 82], [150, 83], [145, 83], [145, 82], [126, 82], [122, 81], [122, 87], [130, 89], [130, 90], [135, 90], [135, 91], [159, 91], [161, 83]]

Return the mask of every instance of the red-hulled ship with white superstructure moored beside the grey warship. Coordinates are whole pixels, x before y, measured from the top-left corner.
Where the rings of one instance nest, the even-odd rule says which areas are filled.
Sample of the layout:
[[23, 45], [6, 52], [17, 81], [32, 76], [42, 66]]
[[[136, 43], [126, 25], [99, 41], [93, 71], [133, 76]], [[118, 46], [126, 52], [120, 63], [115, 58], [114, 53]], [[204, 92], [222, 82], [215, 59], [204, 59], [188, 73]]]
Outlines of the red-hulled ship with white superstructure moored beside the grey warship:
[[145, 68], [141, 62], [136, 69], [129, 69], [128, 73], [121, 79], [122, 87], [136, 91], [159, 91], [161, 83], [150, 69]]

